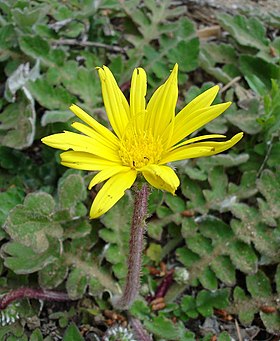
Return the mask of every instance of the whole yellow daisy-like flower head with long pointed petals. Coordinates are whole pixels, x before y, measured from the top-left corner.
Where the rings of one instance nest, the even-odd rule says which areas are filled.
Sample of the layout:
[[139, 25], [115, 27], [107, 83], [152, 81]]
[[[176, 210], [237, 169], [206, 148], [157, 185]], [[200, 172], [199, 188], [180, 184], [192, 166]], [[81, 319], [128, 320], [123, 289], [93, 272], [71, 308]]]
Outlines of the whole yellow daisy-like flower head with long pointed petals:
[[97, 70], [104, 105], [114, 132], [73, 104], [70, 109], [85, 124], [74, 122], [72, 126], [83, 135], [65, 131], [42, 139], [53, 148], [70, 149], [61, 154], [62, 165], [99, 171], [91, 180], [89, 189], [107, 180], [94, 199], [91, 218], [107, 212], [132, 186], [138, 173], [142, 173], [153, 187], [174, 194], [180, 181], [167, 164], [223, 152], [242, 138], [243, 133], [225, 142], [207, 141], [225, 137], [218, 134], [183, 140], [222, 114], [231, 103], [211, 105], [219, 91], [216, 85], [175, 115], [177, 64], [147, 105], [147, 79], [142, 68], [133, 72], [129, 104], [111, 71], [106, 66]]

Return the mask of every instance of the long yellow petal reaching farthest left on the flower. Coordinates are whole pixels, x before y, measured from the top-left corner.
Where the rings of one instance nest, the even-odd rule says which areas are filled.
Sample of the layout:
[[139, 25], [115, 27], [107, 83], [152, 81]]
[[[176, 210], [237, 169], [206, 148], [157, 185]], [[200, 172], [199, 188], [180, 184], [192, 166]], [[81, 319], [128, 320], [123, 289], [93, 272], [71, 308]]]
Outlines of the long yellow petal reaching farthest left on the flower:
[[91, 153], [117, 163], [120, 162], [117, 150], [114, 151], [102, 143], [94, 141], [88, 136], [72, 133], [70, 131], [44, 137], [41, 141], [53, 148], [62, 150], [73, 149], [76, 152]]

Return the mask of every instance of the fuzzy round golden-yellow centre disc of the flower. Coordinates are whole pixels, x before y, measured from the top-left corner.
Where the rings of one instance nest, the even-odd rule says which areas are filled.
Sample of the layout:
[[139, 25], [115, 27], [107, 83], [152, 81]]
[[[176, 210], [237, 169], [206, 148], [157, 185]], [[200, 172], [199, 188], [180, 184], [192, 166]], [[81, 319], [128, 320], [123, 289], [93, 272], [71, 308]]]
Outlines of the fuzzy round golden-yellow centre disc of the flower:
[[157, 164], [161, 159], [163, 148], [161, 138], [155, 138], [151, 132], [127, 134], [122, 140], [119, 155], [124, 166], [134, 169], [148, 164]]

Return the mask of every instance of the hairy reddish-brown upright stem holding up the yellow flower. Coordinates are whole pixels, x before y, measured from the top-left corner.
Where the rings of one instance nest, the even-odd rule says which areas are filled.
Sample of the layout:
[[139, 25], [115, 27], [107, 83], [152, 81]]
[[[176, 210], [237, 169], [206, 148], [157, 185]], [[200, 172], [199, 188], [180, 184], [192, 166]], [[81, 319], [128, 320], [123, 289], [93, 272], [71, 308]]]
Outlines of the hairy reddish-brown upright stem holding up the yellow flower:
[[135, 195], [129, 241], [128, 271], [123, 295], [116, 303], [118, 309], [128, 309], [139, 292], [148, 196], [149, 188], [147, 184], [143, 184]]

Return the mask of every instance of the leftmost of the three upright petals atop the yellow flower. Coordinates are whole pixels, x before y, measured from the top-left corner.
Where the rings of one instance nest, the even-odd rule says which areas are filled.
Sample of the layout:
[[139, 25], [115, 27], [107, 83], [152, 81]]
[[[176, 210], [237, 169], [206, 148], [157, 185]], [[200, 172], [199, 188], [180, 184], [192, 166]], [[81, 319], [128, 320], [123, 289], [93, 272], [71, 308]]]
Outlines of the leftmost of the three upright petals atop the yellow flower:
[[97, 68], [97, 70], [109, 121], [115, 133], [121, 138], [130, 116], [129, 105], [111, 71], [106, 66]]

